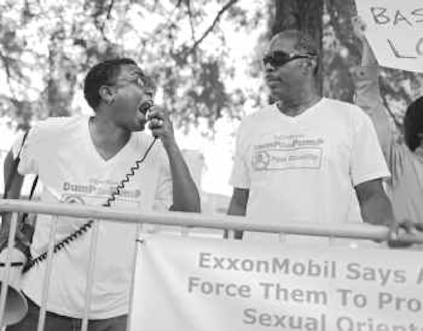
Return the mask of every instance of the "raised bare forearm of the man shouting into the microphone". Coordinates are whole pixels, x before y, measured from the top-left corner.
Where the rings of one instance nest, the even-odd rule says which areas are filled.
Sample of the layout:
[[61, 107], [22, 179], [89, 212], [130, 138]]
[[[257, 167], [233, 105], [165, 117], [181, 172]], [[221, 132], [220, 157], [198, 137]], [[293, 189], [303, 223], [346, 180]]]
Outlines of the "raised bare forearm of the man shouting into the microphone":
[[178, 145], [171, 141], [164, 146], [172, 173], [173, 205], [171, 210], [200, 212], [200, 195]]

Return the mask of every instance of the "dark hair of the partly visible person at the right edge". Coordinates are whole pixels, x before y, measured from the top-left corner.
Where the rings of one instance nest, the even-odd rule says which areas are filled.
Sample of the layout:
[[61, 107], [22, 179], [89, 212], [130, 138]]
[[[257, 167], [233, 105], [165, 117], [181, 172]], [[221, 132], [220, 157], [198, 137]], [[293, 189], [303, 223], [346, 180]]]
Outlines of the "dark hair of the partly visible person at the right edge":
[[404, 115], [404, 140], [413, 152], [421, 142], [419, 133], [423, 133], [423, 97], [414, 100]]

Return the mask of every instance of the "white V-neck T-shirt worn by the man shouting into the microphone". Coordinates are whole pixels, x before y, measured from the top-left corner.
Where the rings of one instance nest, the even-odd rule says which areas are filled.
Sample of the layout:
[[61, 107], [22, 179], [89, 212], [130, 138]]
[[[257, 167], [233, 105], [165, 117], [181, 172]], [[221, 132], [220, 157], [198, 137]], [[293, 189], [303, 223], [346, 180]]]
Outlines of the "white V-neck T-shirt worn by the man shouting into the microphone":
[[[125, 178], [135, 161], [152, 142], [144, 132], [133, 133], [128, 143], [111, 159], [104, 160], [92, 143], [88, 117], [50, 118], [31, 129], [22, 149], [19, 173], [36, 173], [43, 184], [41, 201], [100, 206]], [[15, 144], [15, 150], [21, 140]], [[167, 209], [172, 201], [172, 178], [168, 157], [160, 141], [135, 170], [125, 188], [112, 203], [114, 208], [143, 211]], [[56, 242], [73, 233], [88, 219], [61, 217]], [[51, 216], [38, 215], [33, 257], [47, 250]], [[60, 315], [81, 318], [87, 281], [92, 230], [54, 256], [47, 309]], [[99, 222], [90, 319], [126, 314], [134, 261], [136, 225]], [[46, 261], [24, 277], [22, 290], [37, 304]]]

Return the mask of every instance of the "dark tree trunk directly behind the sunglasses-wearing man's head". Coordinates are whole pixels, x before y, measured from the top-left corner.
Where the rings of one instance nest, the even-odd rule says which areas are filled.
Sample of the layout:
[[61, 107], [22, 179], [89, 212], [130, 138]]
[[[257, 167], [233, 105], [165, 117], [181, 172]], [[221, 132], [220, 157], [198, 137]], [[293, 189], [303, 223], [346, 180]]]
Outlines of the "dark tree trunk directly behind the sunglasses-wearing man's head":
[[[286, 30], [306, 31], [319, 42], [322, 54], [322, 14], [324, 0], [274, 0], [274, 15], [270, 32], [274, 34]], [[322, 60], [319, 59], [318, 86], [322, 92]]]

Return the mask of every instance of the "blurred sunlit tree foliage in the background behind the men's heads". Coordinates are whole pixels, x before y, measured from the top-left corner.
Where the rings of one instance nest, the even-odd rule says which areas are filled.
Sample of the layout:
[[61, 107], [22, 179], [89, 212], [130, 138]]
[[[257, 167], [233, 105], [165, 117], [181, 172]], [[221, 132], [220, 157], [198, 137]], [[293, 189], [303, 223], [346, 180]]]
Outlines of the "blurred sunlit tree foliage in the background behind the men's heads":
[[[260, 59], [272, 29], [288, 24], [284, 15], [289, 13], [295, 24], [311, 20], [318, 9], [310, 6], [317, 3], [9, 0], [0, 4], [0, 81], [5, 86], [0, 111], [19, 127], [80, 112], [86, 107], [78, 93], [87, 70], [98, 61], [125, 56], [154, 77], [163, 100], [158, 101], [172, 112], [177, 126], [188, 128], [205, 119], [213, 131], [220, 117], [238, 119], [247, 104], [266, 103]], [[347, 101], [353, 92], [349, 69], [360, 56], [350, 25], [353, 15], [353, 0], [326, 0], [323, 93]], [[319, 24], [313, 24], [319, 36]], [[248, 50], [240, 53], [233, 41], [253, 34], [257, 39], [248, 39]], [[408, 103], [415, 97], [408, 87], [415, 91], [423, 79], [386, 70], [382, 80], [390, 105], [392, 100]], [[393, 107], [393, 113], [401, 121], [401, 111]]]

